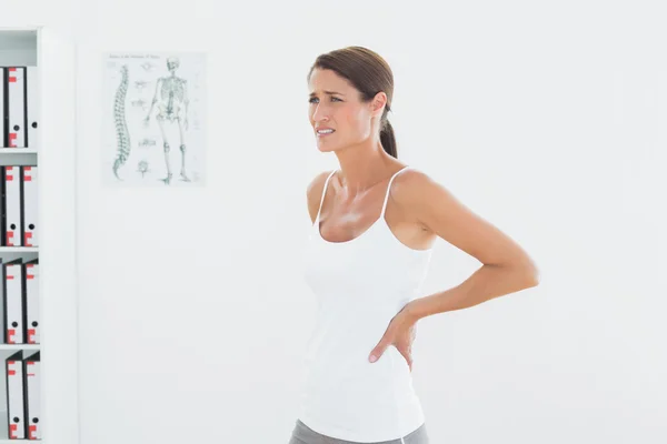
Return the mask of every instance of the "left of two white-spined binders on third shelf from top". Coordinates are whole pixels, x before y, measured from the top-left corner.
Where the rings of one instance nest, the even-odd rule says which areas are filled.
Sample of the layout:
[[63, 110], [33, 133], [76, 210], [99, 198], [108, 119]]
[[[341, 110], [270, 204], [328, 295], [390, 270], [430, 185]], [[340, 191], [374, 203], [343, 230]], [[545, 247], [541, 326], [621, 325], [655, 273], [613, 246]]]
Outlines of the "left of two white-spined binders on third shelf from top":
[[22, 260], [2, 263], [4, 343], [23, 344], [26, 332], [26, 297], [23, 295]]

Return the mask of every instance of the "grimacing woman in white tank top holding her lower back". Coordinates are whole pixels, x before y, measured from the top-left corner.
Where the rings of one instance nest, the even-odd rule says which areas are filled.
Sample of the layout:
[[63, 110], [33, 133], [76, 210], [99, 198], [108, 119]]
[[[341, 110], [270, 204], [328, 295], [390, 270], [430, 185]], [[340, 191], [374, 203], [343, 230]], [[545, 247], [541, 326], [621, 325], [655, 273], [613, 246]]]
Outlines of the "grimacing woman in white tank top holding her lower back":
[[[340, 168], [308, 186], [306, 280], [318, 322], [290, 444], [428, 443], [411, 382], [420, 319], [537, 285], [524, 250], [427, 174], [398, 161], [387, 120], [394, 75], [361, 47], [320, 56], [308, 74], [310, 123]], [[484, 265], [417, 299], [437, 238]]]

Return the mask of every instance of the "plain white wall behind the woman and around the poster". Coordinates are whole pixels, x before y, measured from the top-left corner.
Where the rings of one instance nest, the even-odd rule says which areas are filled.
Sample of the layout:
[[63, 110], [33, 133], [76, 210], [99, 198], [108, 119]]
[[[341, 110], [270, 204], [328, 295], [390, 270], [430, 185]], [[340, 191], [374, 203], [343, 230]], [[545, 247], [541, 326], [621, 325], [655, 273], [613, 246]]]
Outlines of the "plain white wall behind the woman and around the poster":
[[[43, 2], [44, 4], [47, 2]], [[419, 324], [434, 443], [660, 443], [667, 67], [648, 3], [79, 6], [81, 442], [287, 443], [312, 296], [305, 77], [391, 64], [400, 157], [521, 243], [539, 287]], [[541, 3], [540, 3], [541, 4]], [[206, 51], [205, 189], [100, 181], [101, 54]], [[475, 260], [440, 242], [426, 294]]]

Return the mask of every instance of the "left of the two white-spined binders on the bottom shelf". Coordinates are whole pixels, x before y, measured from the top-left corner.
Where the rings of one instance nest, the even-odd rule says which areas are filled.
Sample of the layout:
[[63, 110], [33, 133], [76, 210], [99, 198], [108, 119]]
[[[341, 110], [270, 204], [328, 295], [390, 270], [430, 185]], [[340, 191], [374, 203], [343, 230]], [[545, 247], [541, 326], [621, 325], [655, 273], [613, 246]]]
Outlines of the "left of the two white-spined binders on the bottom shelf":
[[4, 360], [7, 370], [7, 423], [10, 440], [26, 438], [23, 351]]

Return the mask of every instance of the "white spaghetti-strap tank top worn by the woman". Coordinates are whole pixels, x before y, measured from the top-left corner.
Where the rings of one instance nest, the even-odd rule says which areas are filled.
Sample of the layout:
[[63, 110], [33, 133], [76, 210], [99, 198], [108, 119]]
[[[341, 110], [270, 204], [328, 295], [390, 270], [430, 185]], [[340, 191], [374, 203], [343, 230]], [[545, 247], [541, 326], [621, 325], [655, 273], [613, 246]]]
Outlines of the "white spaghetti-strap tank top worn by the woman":
[[[317, 322], [305, 359], [299, 418], [322, 435], [371, 443], [398, 440], [417, 430], [425, 416], [405, 357], [390, 345], [368, 357], [391, 319], [418, 296], [432, 249], [401, 243], [385, 220], [394, 179], [380, 216], [347, 242], [321, 236], [322, 190], [309, 243], [305, 278], [317, 300]], [[401, 438], [402, 442], [402, 438]]]

